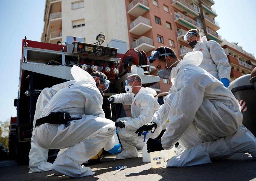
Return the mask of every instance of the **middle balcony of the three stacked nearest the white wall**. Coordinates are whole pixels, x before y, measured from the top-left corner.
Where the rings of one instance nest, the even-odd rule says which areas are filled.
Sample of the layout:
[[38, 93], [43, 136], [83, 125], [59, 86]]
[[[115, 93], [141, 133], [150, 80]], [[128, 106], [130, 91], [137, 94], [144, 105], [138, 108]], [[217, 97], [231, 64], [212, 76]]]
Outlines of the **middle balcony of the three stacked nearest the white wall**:
[[129, 32], [136, 34], [136, 35], [142, 35], [150, 29], [152, 29], [150, 20], [147, 18], [144, 18], [142, 16], [139, 16], [134, 21], [132, 21], [132, 23], [130, 24]]

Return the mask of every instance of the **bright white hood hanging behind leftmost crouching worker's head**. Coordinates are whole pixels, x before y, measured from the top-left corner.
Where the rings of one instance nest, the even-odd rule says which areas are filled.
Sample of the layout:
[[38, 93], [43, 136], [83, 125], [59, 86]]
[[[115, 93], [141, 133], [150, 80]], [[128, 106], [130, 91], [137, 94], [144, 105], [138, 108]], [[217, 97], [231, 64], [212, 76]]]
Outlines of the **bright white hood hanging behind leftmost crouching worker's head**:
[[96, 85], [95, 80], [92, 78], [92, 76], [86, 72], [85, 70], [79, 68], [78, 66], [73, 66], [70, 70], [72, 76], [76, 80], [76, 82], [91, 82], [94, 85]]

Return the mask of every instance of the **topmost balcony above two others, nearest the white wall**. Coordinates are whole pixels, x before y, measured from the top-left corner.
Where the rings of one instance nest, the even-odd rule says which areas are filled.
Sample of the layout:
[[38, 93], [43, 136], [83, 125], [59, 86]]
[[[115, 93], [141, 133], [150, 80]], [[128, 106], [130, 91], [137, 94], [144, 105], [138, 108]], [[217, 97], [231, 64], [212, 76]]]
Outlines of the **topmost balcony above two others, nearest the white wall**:
[[128, 11], [127, 13], [138, 17], [144, 14], [145, 12], [149, 11], [148, 1], [146, 0], [133, 0], [128, 5]]

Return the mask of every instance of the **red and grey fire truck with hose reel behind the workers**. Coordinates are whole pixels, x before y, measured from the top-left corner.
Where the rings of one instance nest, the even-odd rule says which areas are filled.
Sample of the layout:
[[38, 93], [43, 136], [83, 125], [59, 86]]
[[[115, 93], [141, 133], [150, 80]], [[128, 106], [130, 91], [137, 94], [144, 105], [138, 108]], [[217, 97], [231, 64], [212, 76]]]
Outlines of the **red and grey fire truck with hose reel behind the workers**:
[[[102, 46], [101, 40], [105, 40], [102, 35], [104, 36], [100, 33], [97, 36], [94, 44], [85, 43], [84, 39], [72, 36], [67, 36], [65, 42], [57, 44], [27, 40], [26, 37], [22, 40], [19, 91], [18, 98], [14, 100], [14, 106], [17, 107], [16, 127], [14, 131], [12, 129], [9, 140], [10, 148], [15, 150], [12, 156], [15, 156], [18, 164], [27, 164], [29, 161], [33, 118], [40, 92], [45, 87], [74, 79], [70, 73], [72, 66], [79, 66], [89, 73], [101, 71], [108, 76], [111, 83], [104, 93], [102, 108], [106, 118], [113, 121], [118, 117], [126, 117], [126, 112], [121, 104], [113, 105], [110, 112], [106, 99], [125, 92], [125, 80], [128, 76], [140, 72], [144, 87], [160, 81], [158, 76], [150, 75], [150, 66], [144, 51], [127, 51], [126, 42], [116, 39], [111, 39], [107, 46]], [[138, 71], [132, 72], [132, 65]]]

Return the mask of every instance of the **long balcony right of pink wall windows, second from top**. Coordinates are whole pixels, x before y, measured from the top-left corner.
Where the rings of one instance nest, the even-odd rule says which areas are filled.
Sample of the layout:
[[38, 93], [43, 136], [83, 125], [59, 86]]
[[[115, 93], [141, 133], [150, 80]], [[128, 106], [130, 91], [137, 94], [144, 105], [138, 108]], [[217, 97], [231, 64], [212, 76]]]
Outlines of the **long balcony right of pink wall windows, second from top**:
[[196, 28], [199, 28], [198, 27], [198, 24], [195, 20], [191, 19], [191, 18], [188, 18], [187, 16], [183, 15], [183, 14], [180, 14], [178, 12], [175, 12], [175, 17], [174, 17], [174, 22], [175, 23], [178, 23], [182, 26], [185, 26], [186, 28], [188, 29], [196, 29]]

